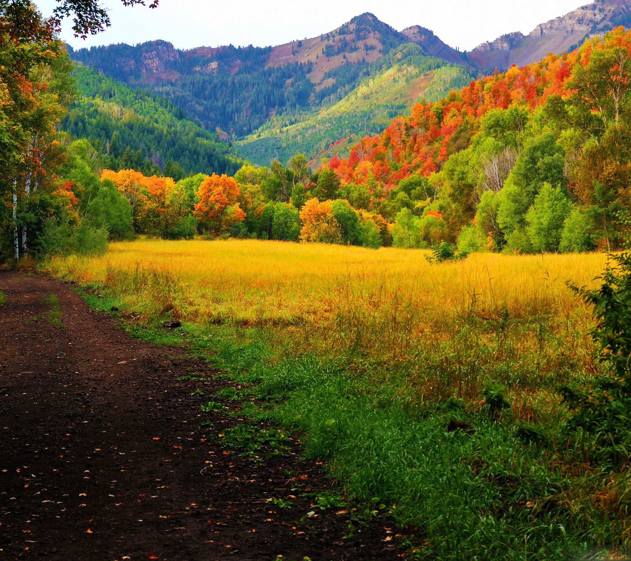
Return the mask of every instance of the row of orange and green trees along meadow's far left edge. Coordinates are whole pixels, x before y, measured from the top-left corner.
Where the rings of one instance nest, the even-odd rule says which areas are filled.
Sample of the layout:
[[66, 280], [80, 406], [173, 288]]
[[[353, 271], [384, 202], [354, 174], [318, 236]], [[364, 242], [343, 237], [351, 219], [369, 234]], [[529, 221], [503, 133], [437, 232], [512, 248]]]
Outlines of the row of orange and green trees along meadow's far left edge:
[[[388, 223], [378, 213], [355, 210], [339, 194], [339, 181], [330, 170], [310, 174], [298, 155], [285, 167], [244, 165], [234, 175], [198, 174], [175, 182], [170, 177], [147, 177], [135, 170], [89, 172], [85, 140], [69, 147], [80, 155], [64, 170], [66, 186], [80, 212], [95, 193], [116, 194], [99, 227], [110, 237], [134, 234], [165, 239], [240, 237], [292, 242], [354, 244], [377, 248], [391, 243]], [[81, 168], [83, 172], [76, 170]], [[96, 212], [91, 213], [97, 224]], [[100, 215], [99, 215], [100, 216]]]

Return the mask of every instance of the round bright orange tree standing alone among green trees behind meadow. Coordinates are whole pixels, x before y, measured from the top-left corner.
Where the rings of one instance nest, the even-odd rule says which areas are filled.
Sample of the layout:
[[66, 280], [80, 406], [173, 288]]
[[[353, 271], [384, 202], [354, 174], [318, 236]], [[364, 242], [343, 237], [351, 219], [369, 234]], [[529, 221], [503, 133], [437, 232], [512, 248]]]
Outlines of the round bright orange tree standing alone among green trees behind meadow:
[[199, 225], [213, 233], [227, 231], [232, 225], [242, 222], [245, 213], [239, 206], [239, 185], [234, 177], [226, 174], [208, 175], [201, 182], [193, 215]]

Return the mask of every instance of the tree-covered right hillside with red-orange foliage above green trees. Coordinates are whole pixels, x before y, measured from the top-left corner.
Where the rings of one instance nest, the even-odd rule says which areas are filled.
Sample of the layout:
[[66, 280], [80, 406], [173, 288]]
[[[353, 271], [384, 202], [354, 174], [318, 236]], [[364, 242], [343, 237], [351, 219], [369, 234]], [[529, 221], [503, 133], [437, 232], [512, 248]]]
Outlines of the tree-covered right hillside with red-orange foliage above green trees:
[[[613, 250], [628, 243], [631, 32], [471, 81], [366, 137], [334, 172], [395, 245]], [[387, 207], [384, 208], [384, 207]]]

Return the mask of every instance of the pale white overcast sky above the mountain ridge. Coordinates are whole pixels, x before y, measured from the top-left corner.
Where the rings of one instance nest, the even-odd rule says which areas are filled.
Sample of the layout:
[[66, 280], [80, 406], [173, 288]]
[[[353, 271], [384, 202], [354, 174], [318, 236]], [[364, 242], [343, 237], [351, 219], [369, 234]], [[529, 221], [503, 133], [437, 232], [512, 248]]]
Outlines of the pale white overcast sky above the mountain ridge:
[[[147, 4], [150, 0], [146, 0]], [[35, 0], [50, 15], [56, 0]], [[471, 50], [504, 33], [526, 34], [543, 21], [585, 4], [583, 0], [160, 0], [157, 9], [124, 8], [121, 0], [102, 0], [110, 10], [112, 27], [83, 41], [73, 37], [66, 20], [61, 38], [78, 49], [112, 43], [137, 44], [164, 39], [177, 49], [201, 45], [279, 45], [315, 37], [369, 11], [392, 27], [410, 25], [431, 29], [445, 43]]]

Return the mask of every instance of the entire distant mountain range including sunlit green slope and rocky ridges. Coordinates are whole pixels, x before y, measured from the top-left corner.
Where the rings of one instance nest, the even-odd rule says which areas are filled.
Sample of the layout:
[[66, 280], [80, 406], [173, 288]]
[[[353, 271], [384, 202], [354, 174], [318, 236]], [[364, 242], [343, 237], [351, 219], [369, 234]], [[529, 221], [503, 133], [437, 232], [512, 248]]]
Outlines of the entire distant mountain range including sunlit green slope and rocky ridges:
[[502, 35], [471, 52], [452, 49], [420, 25], [399, 32], [363, 13], [331, 32], [275, 47], [178, 50], [153, 41], [69, 53], [100, 74], [167, 98], [199, 126], [267, 165], [299, 151], [308, 158], [330, 155], [471, 76], [524, 66], [627, 25], [629, 6], [631, 0], [596, 0], [529, 35]]

